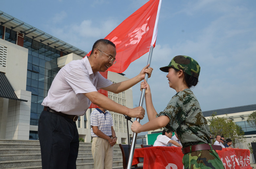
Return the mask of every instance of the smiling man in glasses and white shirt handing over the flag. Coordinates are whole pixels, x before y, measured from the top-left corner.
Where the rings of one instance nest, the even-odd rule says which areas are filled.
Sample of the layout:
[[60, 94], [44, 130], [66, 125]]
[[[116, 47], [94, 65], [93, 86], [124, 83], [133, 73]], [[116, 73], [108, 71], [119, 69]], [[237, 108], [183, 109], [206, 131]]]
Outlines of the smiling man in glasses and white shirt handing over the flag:
[[145, 66], [132, 79], [113, 84], [101, 76], [116, 59], [116, 46], [106, 39], [97, 40], [89, 57], [72, 61], [62, 67], [53, 80], [48, 96], [42, 105], [44, 110], [38, 122], [42, 169], [76, 168], [78, 155], [78, 131], [75, 121], [84, 115], [91, 103], [120, 114], [143, 119], [145, 110], [120, 105], [97, 92], [104, 89], [120, 93], [151, 76], [152, 68]]

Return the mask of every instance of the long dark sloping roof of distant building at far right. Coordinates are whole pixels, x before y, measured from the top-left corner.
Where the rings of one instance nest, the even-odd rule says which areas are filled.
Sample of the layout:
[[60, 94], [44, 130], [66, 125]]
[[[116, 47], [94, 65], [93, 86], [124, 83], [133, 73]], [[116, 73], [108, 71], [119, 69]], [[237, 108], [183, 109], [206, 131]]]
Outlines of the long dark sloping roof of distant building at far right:
[[254, 110], [256, 111], [256, 104], [203, 111], [203, 116], [209, 117], [213, 114], [213, 112], [216, 112], [217, 115], [223, 115], [223, 114], [239, 113], [239, 112], [254, 111]]

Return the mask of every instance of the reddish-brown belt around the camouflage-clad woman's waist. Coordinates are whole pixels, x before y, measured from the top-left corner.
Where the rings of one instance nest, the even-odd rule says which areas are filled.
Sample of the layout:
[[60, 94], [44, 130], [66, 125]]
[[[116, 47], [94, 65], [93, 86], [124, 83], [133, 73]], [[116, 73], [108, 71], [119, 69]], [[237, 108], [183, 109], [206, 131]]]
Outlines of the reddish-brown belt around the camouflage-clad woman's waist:
[[209, 145], [209, 144], [196, 144], [191, 145], [189, 147], [181, 148], [183, 154], [191, 153], [193, 151], [200, 151], [200, 150], [222, 150], [220, 145]]

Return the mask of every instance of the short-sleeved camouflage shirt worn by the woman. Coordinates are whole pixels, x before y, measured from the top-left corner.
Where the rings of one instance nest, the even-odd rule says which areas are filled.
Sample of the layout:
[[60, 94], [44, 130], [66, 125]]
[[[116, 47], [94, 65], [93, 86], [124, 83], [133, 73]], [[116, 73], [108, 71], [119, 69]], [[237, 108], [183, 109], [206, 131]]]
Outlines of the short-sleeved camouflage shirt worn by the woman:
[[176, 131], [183, 147], [210, 143], [210, 130], [196, 96], [190, 89], [176, 93], [163, 112], [170, 122], [164, 127], [167, 132]]

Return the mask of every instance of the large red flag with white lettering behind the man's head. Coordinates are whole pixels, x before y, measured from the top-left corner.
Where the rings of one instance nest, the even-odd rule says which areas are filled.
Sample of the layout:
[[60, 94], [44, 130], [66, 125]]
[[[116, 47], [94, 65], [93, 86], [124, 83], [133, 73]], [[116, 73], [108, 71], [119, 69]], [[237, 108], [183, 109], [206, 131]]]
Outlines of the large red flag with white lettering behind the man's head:
[[[155, 47], [157, 36], [155, 24], [158, 23], [159, 1], [148, 1], [104, 38], [112, 41], [116, 45], [117, 50], [116, 64], [108, 68], [108, 71], [124, 72], [131, 62], [147, 53], [150, 46]], [[91, 51], [86, 56], [90, 54]], [[108, 96], [107, 91], [99, 90], [98, 92]], [[89, 108], [97, 107], [97, 105], [92, 103]]]

